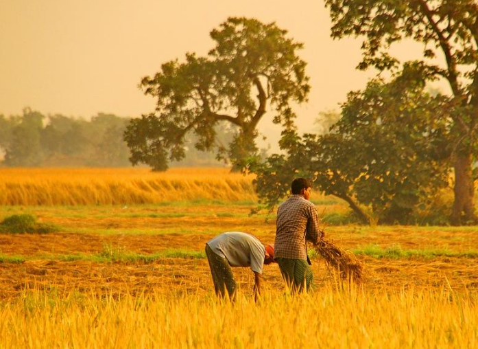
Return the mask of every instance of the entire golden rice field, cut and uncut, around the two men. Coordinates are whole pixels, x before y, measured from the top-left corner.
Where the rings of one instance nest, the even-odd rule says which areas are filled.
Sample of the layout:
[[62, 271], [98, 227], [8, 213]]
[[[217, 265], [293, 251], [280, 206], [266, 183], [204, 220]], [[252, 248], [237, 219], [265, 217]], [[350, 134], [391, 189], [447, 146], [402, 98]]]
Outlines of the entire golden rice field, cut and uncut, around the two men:
[[[312, 294], [291, 297], [270, 264], [261, 302], [241, 268], [237, 302], [218, 302], [204, 243], [226, 231], [274, 240], [274, 214], [249, 214], [251, 179], [0, 170], [0, 221], [34, 214], [59, 227], [0, 234], [0, 348], [478, 348], [477, 227], [328, 226], [326, 238], [363, 262], [360, 285], [313, 256]], [[346, 210], [313, 195], [320, 214]]]

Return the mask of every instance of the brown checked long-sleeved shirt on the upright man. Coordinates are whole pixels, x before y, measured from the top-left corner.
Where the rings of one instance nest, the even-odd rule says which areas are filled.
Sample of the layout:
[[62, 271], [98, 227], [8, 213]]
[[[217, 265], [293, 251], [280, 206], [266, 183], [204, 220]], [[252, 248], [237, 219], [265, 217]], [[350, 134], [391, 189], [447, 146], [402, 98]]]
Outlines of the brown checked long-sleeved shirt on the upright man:
[[274, 258], [307, 260], [305, 241], [321, 237], [317, 208], [301, 195], [292, 195], [277, 210]]

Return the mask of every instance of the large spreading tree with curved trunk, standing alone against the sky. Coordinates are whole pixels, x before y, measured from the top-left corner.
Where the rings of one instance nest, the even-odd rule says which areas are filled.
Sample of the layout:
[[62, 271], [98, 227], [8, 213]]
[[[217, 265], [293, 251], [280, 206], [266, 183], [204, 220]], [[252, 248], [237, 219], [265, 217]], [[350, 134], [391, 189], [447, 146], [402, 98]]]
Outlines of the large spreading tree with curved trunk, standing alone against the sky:
[[235, 168], [257, 155], [257, 125], [268, 107], [274, 122], [294, 128], [291, 101], [309, 92], [302, 48], [275, 23], [229, 18], [211, 32], [215, 47], [206, 57], [187, 54], [184, 62], [165, 63], [155, 76], [141, 81], [146, 95], [157, 98], [156, 111], [130, 122], [125, 139], [132, 164], [143, 162], [165, 170], [168, 161], [184, 158], [184, 136], [197, 136], [195, 147], [215, 148], [215, 125], [237, 127], [230, 144], [219, 147]]

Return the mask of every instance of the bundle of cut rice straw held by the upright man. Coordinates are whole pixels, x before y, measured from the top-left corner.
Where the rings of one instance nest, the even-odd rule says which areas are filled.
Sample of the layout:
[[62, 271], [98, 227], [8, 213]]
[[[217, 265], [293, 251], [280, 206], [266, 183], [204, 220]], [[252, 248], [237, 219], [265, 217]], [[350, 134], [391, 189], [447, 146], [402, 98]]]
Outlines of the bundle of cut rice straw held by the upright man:
[[352, 253], [348, 253], [323, 238], [314, 247], [315, 251], [324, 258], [327, 267], [337, 269], [342, 279], [353, 280], [357, 284], [360, 283], [363, 265]]

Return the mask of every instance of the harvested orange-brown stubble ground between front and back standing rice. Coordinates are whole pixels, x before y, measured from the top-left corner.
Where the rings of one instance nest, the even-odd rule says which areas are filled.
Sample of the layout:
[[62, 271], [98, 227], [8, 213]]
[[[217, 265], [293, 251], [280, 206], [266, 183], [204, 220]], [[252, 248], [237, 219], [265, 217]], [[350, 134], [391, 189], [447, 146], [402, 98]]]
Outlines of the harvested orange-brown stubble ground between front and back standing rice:
[[[23, 264], [0, 263], [0, 299], [19, 297], [25, 285], [35, 282], [45, 288], [82, 293], [94, 289], [120, 295], [127, 289], [139, 292], [149, 287], [149, 291], [160, 293], [174, 289], [206, 295], [212, 284], [205, 259], [108, 264], [91, 262], [88, 256], [100, 254], [105, 246], [117, 248], [119, 254], [124, 251], [148, 256], [168, 249], [204, 252], [206, 241], [228, 231], [250, 232], [263, 243], [272, 243], [274, 217], [265, 221], [263, 216], [248, 216], [251, 207], [254, 203], [165, 203], [126, 208], [122, 205], [0, 206], [0, 219], [28, 213], [37, 216], [38, 221], [64, 229], [46, 236], [0, 236], [0, 257], [26, 260]], [[364, 264], [366, 275], [362, 285], [367, 289], [399, 290], [404, 286], [437, 289], [448, 279], [453, 288], [476, 290], [477, 259], [468, 258], [466, 254], [476, 254], [477, 232], [477, 227], [329, 226], [327, 239], [346, 251], [366, 252], [357, 254], [357, 260]], [[400, 251], [400, 254], [393, 254], [392, 258], [384, 253], [384, 257], [374, 256], [377, 251], [389, 250]], [[424, 253], [405, 257], [409, 251]], [[449, 251], [450, 254], [427, 254], [427, 251]], [[87, 257], [83, 260], [69, 257], [77, 254]], [[319, 289], [333, 284], [320, 256], [313, 259], [312, 268]], [[239, 270], [235, 273], [241, 275]], [[249, 270], [243, 273], [244, 288], [250, 291], [252, 273]], [[276, 264], [266, 266], [265, 284], [272, 289], [284, 289]]]

